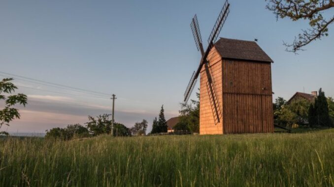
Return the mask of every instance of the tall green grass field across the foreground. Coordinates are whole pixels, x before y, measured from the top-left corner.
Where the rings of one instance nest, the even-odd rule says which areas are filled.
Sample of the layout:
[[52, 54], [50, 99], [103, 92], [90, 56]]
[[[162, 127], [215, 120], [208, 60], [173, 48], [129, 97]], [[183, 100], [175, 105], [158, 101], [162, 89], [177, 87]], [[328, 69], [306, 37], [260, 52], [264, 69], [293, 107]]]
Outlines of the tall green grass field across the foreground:
[[334, 186], [334, 129], [0, 140], [0, 186]]

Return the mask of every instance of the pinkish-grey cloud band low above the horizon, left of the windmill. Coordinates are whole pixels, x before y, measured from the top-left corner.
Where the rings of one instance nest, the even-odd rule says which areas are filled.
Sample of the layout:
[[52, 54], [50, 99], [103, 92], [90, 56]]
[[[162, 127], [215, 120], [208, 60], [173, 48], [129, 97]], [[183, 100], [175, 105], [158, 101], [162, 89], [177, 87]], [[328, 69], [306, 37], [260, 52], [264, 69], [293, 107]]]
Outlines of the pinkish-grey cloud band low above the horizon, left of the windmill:
[[[14, 120], [7, 130], [42, 133], [54, 127], [66, 127], [73, 123], [84, 125], [88, 120], [88, 115], [97, 116], [111, 113], [111, 106], [101, 104], [56, 95], [28, 95], [28, 105], [26, 107], [19, 106], [21, 119]], [[110, 103], [106, 103], [106, 105], [108, 104]], [[115, 120], [128, 127], [132, 127], [135, 122], [142, 119], [148, 120], [151, 124], [153, 118], [159, 115], [159, 109], [157, 111], [122, 109], [120, 106], [122, 104], [118, 103], [118, 107], [115, 109]], [[165, 111], [167, 118], [177, 116], [177, 114], [177, 111]]]

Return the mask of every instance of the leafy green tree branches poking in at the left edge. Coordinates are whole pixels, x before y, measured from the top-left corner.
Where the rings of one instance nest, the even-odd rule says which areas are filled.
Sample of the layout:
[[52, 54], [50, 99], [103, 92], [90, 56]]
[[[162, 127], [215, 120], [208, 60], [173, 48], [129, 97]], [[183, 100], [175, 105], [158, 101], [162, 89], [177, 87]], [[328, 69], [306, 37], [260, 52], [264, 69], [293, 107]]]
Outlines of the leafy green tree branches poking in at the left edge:
[[[9, 126], [9, 122], [13, 119], [20, 119], [19, 109], [14, 108], [15, 105], [27, 105], [27, 96], [24, 94], [12, 95], [18, 89], [11, 81], [13, 79], [3, 79], [0, 81], [0, 101], [4, 101], [3, 109], [0, 110], [0, 129], [3, 125]], [[9, 95], [9, 96], [8, 96]], [[1, 107], [2, 108], [2, 107]], [[8, 135], [6, 132], [0, 134]]]

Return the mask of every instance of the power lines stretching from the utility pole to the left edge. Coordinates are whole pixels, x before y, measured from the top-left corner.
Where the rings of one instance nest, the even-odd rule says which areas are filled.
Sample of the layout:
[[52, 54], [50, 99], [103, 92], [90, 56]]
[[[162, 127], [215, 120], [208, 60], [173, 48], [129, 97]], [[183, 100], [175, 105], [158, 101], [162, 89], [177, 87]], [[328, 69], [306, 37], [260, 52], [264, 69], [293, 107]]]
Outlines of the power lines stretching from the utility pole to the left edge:
[[[4, 74], [4, 75], [7, 75], [7, 76], [13, 76], [13, 77], [19, 77], [19, 78], [22, 78], [22, 79], [26, 79], [24, 81], [37, 81], [37, 82], [33, 82], [33, 83], [37, 83], [37, 84], [42, 84], [42, 85], [45, 85], [45, 84], [51, 84], [51, 85], [47, 85], [47, 86], [58, 86], [57, 88], [60, 88], [62, 87], [62, 89], [72, 89], [71, 91], [76, 90], [76, 91], [81, 91], [81, 92], [90, 92], [90, 94], [100, 94], [100, 95], [105, 95], [105, 96], [109, 96], [110, 94], [107, 94], [107, 93], [103, 93], [103, 92], [97, 92], [97, 91], [92, 91], [92, 90], [86, 90], [86, 89], [81, 89], [81, 88], [76, 88], [76, 87], [72, 87], [72, 86], [67, 86], [67, 85], [62, 85], [62, 84], [58, 84], [58, 83], [53, 83], [53, 82], [48, 82], [48, 81], [44, 81], [44, 80], [37, 80], [37, 79], [33, 79], [33, 78], [28, 78], [28, 77], [23, 77], [23, 76], [18, 76], [18, 75], [14, 75], [14, 74], [10, 74], [10, 73], [6, 73], [6, 72], [2, 72], [0, 71], [1, 74]], [[15, 78], [15, 79], [18, 79], [19, 78]], [[20, 79], [20, 80], [22, 80]], [[42, 82], [42, 83], [41, 83]], [[60, 87], [59, 87], [60, 86]]]

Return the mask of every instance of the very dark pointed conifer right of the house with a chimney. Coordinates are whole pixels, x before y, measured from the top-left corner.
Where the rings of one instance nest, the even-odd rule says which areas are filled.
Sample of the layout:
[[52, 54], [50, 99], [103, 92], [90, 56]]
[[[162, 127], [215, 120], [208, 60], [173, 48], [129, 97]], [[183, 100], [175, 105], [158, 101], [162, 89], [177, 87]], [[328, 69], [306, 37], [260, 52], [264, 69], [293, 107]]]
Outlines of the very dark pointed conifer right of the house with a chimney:
[[329, 105], [327, 103], [327, 98], [325, 92], [320, 88], [319, 95], [314, 102], [314, 111], [310, 115], [310, 120], [313, 126], [332, 126], [332, 121], [329, 115]]

